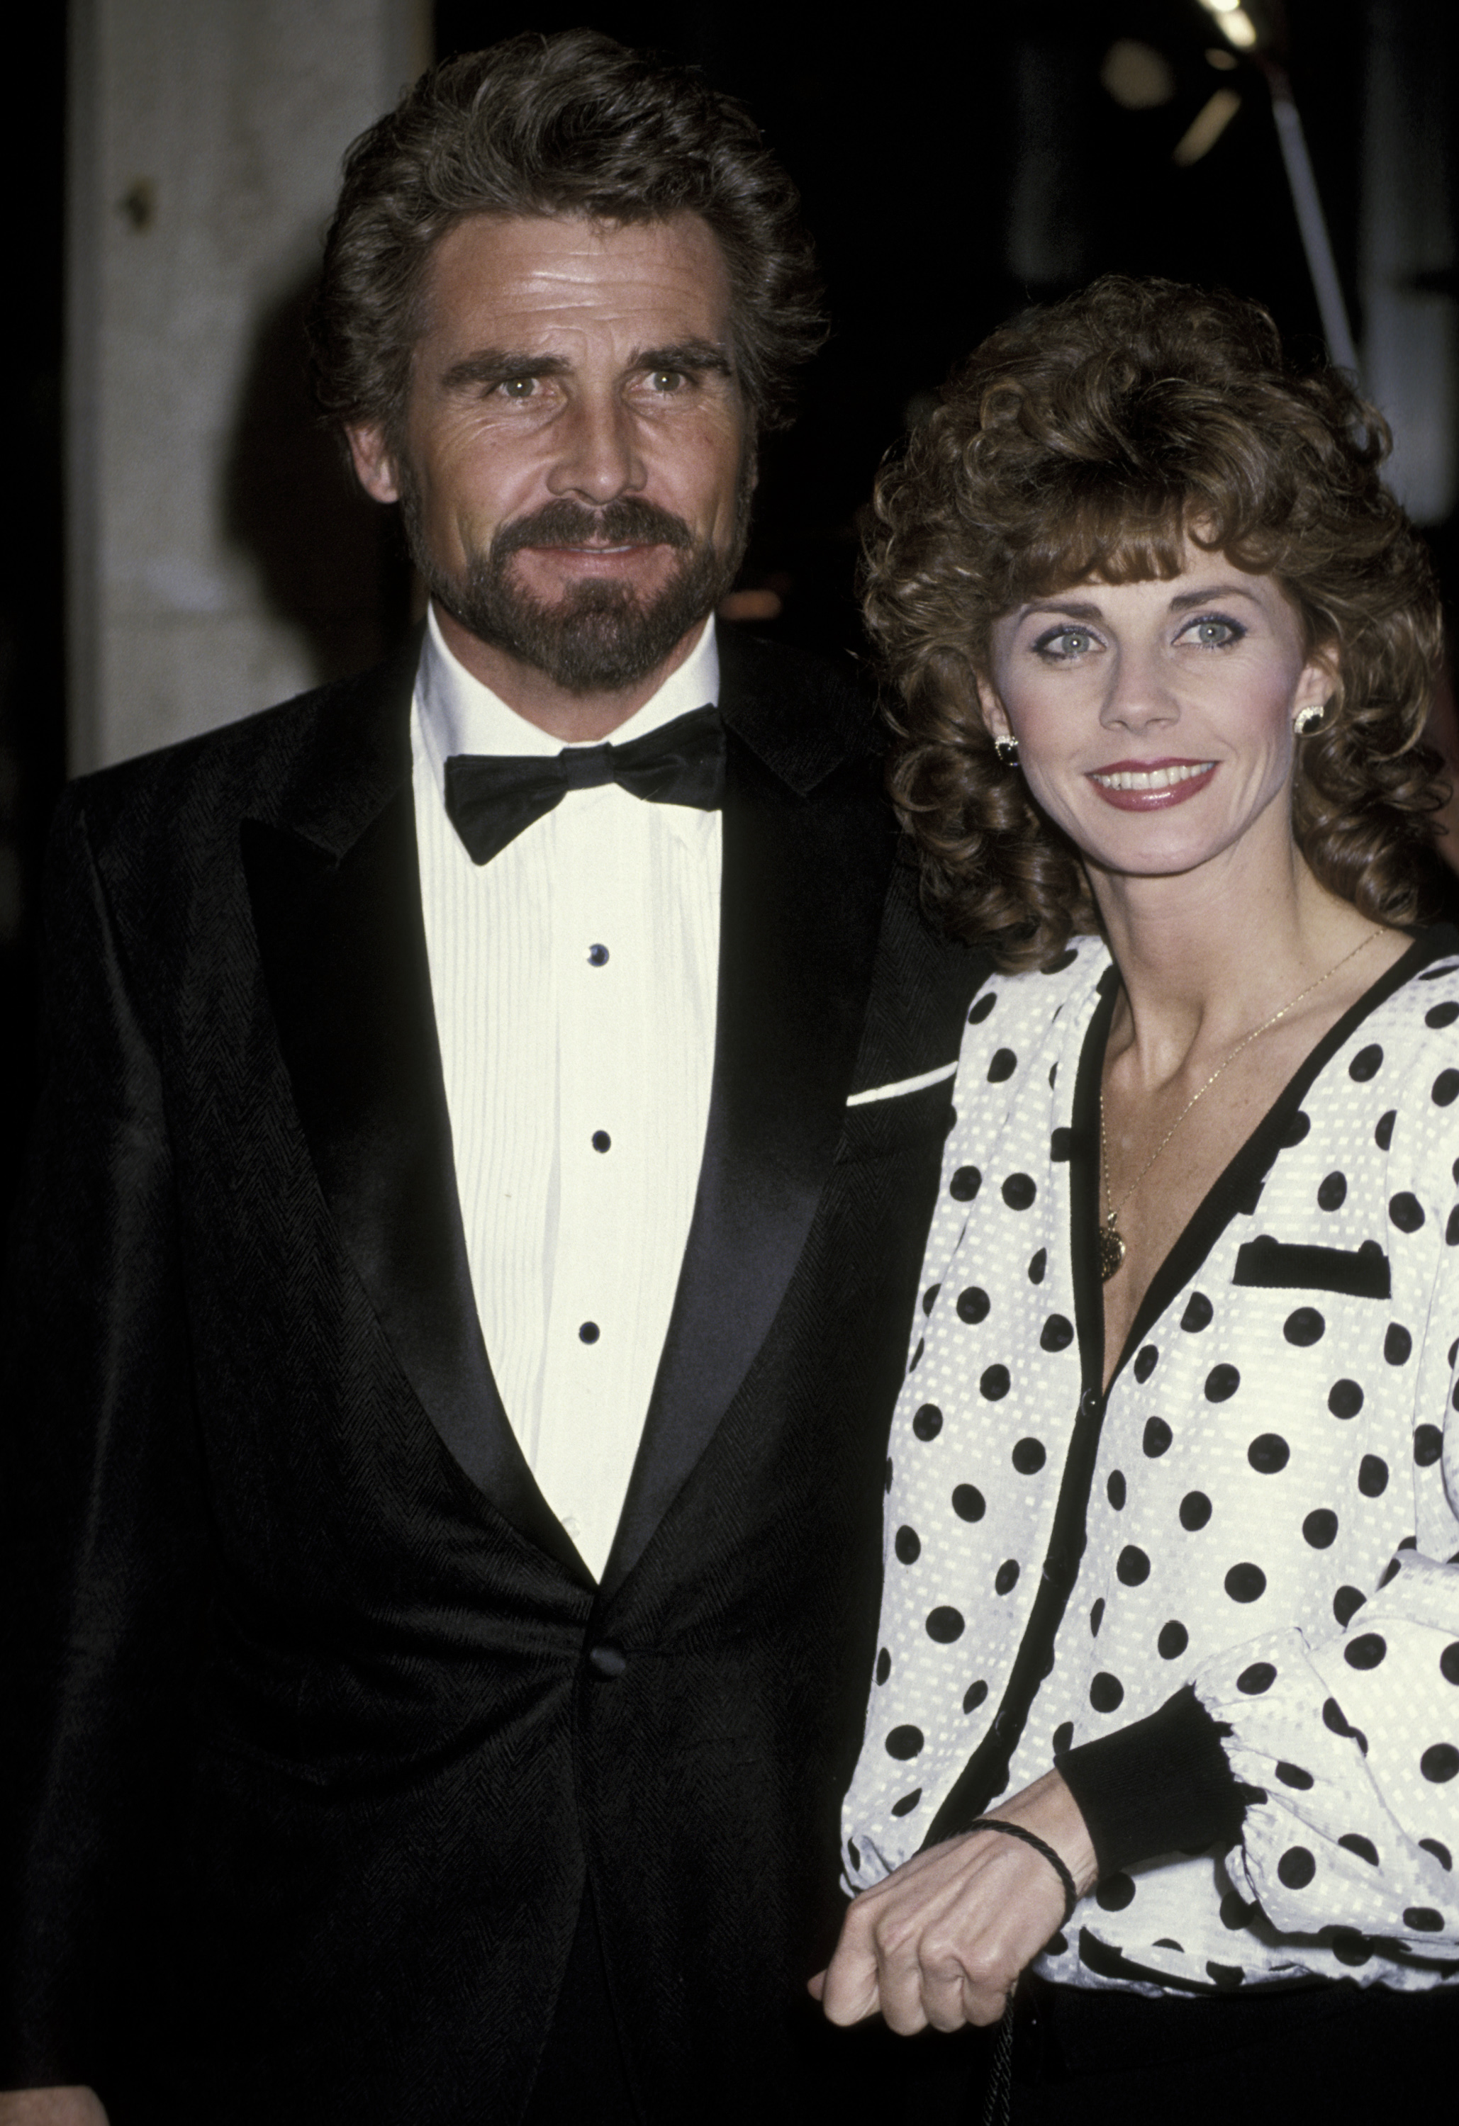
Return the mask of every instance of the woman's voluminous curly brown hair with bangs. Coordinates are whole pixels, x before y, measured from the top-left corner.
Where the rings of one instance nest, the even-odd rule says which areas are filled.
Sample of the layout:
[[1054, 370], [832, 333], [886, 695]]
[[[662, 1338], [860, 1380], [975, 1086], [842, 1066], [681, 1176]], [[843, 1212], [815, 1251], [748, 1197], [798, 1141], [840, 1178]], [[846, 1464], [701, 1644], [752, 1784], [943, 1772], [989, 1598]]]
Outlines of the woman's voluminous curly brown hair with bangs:
[[1176, 576], [1183, 546], [1270, 570], [1331, 648], [1297, 744], [1293, 831], [1374, 923], [1412, 923], [1446, 797], [1421, 744], [1440, 659], [1427, 553], [1378, 468], [1382, 417], [1304, 372], [1238, 296], [1108, 276], [1002, 327], [876, 485], [866, 617], [900, 695], [891, 791], [923, 895], [1004, 967], [1046, 967], [1097, 914], [1074, 844], [1000, 765], [978, 710], [993, 621], [1093, 576]]

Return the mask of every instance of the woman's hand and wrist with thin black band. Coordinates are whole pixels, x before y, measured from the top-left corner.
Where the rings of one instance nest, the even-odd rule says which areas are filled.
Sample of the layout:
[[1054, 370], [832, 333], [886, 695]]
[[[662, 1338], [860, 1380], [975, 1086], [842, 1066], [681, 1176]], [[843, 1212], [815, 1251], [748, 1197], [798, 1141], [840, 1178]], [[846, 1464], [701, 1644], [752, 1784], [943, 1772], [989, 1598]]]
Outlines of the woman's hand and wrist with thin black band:
[[[1089, 1830], [1057, 1771], [989, 1813], [1053, 1845], [1080, 1896], [1093, 1888]], [[810, 1992], [829, 2022], [863, 2022], [881, 2009], [902, 2037], [927, 2024], [997, 2022], [1061, 1918], [1063, 1884], [1040, 1852], [1002, 1830], [970, 1830], [855, 1899]]]

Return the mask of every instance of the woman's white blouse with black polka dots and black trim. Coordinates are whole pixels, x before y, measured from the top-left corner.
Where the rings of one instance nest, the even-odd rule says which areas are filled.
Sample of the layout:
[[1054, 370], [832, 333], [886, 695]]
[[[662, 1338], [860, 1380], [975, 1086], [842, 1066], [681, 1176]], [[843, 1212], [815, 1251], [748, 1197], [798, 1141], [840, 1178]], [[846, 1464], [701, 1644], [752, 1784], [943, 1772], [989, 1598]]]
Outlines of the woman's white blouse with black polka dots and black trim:
[[1236, 1843], [1172, 1835], [1180, 1794], [1151, 1794], [1161, 1850], [1106, 1873], [1038, 1969], [1183, 1994], [1459, 1977], [1459, 935], [1425, 931], [1308, 1057], [1106, 1397], [1117, 986], [1078, 940], [968, 1014], [846, 1884], [1185, 1694]]

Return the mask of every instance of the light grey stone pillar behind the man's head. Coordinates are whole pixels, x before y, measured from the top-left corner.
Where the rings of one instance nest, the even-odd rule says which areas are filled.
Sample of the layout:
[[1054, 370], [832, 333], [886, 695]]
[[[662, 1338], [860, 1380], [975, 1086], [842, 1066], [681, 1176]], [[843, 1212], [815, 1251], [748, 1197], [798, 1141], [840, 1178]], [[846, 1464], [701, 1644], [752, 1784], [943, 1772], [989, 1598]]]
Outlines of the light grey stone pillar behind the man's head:
[[70, 0], [70, 765], [368, 661], [381, 532], [311, 425], [304, 291], [427, 0]]

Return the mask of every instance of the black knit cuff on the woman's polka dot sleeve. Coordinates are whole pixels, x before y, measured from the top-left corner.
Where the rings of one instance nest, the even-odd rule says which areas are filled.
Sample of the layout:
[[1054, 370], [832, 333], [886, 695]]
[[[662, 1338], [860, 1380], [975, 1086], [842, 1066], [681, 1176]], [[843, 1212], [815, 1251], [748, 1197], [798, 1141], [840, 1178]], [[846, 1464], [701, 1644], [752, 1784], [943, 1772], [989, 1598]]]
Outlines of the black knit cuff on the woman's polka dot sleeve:
[[1221, 1737], [1187, 1686], [1148, 1720], [1055, 1756], [1089, 1826], [1100, 1875], [1170, 1852], [1236, 1845], [1246, 1803], [1265, 1801], [1231, 1771]]

